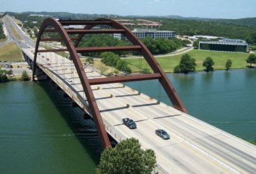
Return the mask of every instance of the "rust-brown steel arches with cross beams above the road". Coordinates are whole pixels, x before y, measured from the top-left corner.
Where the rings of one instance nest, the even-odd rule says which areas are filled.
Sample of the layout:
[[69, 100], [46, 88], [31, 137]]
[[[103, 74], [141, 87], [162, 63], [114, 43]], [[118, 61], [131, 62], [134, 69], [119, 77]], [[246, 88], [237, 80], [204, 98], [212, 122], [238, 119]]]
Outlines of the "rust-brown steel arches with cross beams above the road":
[[[85, 25], [83, 29], [67, 29], [67, 25]], [[97, 25], [109, 25], [111, 29], [92, 29]], [[58, 33], [60, 38], [42, 38], [44, 33]], [[127, 40], [132, 43], [132, 46], [123, 47], [78, 47], [83, 36], [85, 34], [114, 34], [122, 33], [126, 36]], [[70, 34], [77, 34], [77, 37], [72, 37]], [[62, 41], [65, 43], [67, 48], [51, 48], [51, 49], [39, 49], [40, 42], [42, 41]], [[140, 51], [144, 59], [148, 62], [154, 73], [149, 75], [136, 75], [136, 76], [117, 76], [108, 78], [92, 78], [89, 79], [83, 69], [83, 64], [79, 58], [78, 53], [81, 52], [107, 52], [107, 51]], [[68, 51], [70, 58], [74, 62], [77, 74], [83, 86], [84, 94], [87, 98], [92, 117], [95, 120], [95, 124], [98, 129], [100, 141], [102, 147], [111, 146], [108, 138], [108, 134], [104, 127], [102, 118], [100, 117], [100, 111], [97, 106], [95, 97], [93, 96], [91, 85], [99, 85], [104, 83], [116, 83], [116, 82], [131, 82], [141, 80], [153, 80], [157, 79], [163, 86], [168, 98], [173, 103], [173, 107], [178, 110], [187, 113], [186, 108], [182, 104], [177, 92], [175, 91], [172, 83], [168, 80], [168, 77], [164, 73], [161, 66], [158, 64], [154, 56], [150, 53], [148, 48], [140, 41], [129, 29], [124, 27], [122, 24], [108, 18], [98, 18], [96, 20], [62, 20], [58, 21], [53, 18], [46, 18], [42, 23], [38, 32], [38, 38], [36, 40], [35, 57], [33, 62], [33, 81], [35, 80], [35, 69], [36, 69], [36, 57], [39, 52], [64, 52]]]

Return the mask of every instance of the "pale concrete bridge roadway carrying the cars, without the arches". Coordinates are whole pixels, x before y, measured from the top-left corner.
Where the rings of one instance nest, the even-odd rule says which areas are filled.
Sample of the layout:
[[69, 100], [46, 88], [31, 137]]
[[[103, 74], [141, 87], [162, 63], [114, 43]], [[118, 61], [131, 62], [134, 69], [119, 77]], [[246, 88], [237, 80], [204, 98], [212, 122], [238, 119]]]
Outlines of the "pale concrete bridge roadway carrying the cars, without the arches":
[[[31, 49], [22, 51], [33, 59]], [[55, 60], [47, 61], [47, 54], [38, 56], [38, 66], [86, 110], [76, 68], [68, 59], [54, 53], [51, 58]], [[57, 59], [58, 63], [54, 63]], [[47, 67], [47, 62], [51, 62], [51, 66]], [[90, 78], [102, 78], [89, 66], [85, 71]], [[72, 78], [72, 82], [68, 78]], [[122, 83], [93, 85], [92, 89], [108, 133], [116, 141], [138, 138], [144, 149], [153, 149], [159, 173], [255, 173], [254, 145], [171, 106], [157, 103]], [[138, 128], [124, 126], [122, 119], [125, 117], [133, 119]], [[170, 140], [163, 140], [154, 133], [160, 128], [170, 134]]]

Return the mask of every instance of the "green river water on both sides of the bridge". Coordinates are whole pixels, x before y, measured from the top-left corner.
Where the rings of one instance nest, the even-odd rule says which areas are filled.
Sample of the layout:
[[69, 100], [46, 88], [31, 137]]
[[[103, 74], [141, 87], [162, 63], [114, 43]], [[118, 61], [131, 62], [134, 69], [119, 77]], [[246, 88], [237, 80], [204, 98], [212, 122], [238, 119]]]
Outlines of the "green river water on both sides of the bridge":
[[[256, 69], [168, 76], [190, 115], [256, 137]], [[125, 84], [170, 103], [156, 80]], [[94, 173], [101, 150], [92, 120], [50, 82], [0, 83], [1, 173]]]

